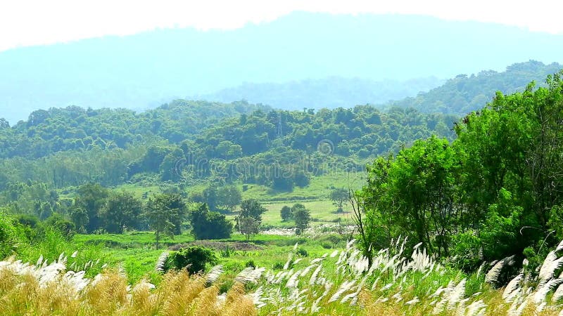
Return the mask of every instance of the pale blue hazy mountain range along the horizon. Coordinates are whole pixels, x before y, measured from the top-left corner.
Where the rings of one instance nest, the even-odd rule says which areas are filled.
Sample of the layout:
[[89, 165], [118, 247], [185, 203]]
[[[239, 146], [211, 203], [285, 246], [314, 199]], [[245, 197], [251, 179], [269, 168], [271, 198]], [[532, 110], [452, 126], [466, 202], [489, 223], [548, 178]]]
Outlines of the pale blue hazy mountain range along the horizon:
[[521, 60], [561, 62], [561, 51], [563, 35], [517, 27], [292, 13], [229, 31], [161, 29], [1, 52], [0, 117], [13, 122], [38, 108], [72, 104], [146, 108], [244, 82], [448, 78]]

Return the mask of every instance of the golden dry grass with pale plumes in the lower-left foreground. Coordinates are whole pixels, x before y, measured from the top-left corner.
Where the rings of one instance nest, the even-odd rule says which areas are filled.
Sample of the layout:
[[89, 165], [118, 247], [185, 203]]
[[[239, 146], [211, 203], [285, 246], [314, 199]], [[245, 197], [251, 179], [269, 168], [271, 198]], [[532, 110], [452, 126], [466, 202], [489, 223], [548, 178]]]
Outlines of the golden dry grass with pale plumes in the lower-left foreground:
[[256, 315], [251, 298], [241, 285], [222, 301], [215, 285], [207, 287], [201, 275], [170, 272], [161, 286], [141, 280], [134, 287], [118, 270], [105, 270], [84, 289], [60, 271], [42, 278], [51, 265], [25, 265], [4, 261], [0, 265], [2, 315]]

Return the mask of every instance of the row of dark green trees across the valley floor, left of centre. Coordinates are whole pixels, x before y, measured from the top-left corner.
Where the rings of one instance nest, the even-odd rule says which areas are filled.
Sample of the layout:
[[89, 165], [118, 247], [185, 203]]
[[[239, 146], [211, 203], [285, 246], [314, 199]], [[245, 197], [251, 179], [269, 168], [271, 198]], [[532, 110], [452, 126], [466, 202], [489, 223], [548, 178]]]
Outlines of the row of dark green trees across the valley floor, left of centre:
[[[233, 185], [212, 185], [192, 195], [173, 191], [141, 199], [126, 190], [85, 183], [77, 187], [74, 197], [61, 197], [42, 183], [20, 183], [4, 192], [4, 198], [14, 200], [0, 207], [0, 213], [13, 214], [18, 225], [30, 232], [45, 223], [68, 237], [75, 233], [151, 230], [157, 247], [163, 235], [173, 237], [186, 231], [195, 239], [227, 239], [236, 230], [248, 241], [262, 230], [265, 207], [255, 199], [241, 199], [240, 190]], [[295, 213], [302, 213], [295, 216], [299, 235], [308, 226], [310, 216], [301, 204], [293, 209], [297, 206], [299, 211]], [[226, 212], [236, 214], [234, 220], [227, 219]]]

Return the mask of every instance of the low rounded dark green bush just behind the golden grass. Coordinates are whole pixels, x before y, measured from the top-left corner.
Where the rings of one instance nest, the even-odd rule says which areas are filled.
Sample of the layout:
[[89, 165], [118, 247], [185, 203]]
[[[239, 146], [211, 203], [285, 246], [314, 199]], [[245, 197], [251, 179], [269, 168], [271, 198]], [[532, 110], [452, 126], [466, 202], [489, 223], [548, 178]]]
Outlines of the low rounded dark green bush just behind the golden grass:
[[190, 274], [203, 272], [205, 265], [214, 265], [217, 258], [211, 249], [202, 246], [191, 246], [179, 251], [172, 251], [164, 264], [164, 270], [186, 269]]

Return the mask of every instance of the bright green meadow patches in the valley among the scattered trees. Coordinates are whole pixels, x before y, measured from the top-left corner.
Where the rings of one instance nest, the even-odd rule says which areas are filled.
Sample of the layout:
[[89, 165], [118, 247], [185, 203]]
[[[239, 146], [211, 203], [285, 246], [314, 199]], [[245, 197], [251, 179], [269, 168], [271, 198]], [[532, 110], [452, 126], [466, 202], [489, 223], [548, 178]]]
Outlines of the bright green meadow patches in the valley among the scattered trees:
[[[265, 206], [267, 211], [262, 215], [262, 224], [274, 227], [292, 227], [293, 221], [282, 222], [279, 211], [284, 205], [293, 206], [301, 203], [311, 212], [312, 222], [310, 225], [322, 223], [334, 223], [334, 220], [341, 218], [345, 223], [350, 223], [351, 213], [349, 206], [344, 207], [345, 213], [336, 213], [336, 206], [329, 200], [331, 187], [351, 187], [358, 189], [363, 184], [364, 173], [351, 173], [350, 175], [334, 174], [328, 176], [317, 176], [311, 178], [310, 185], [307, 187], [295, 187], [293, 192], [278, 192], [264, 185], [248, 184], [248, 190], [242, 192], [243, 199], [258, 199]], [[345, 180], [343, 180], [345, 179]], [[239, 184], [242, 190], [243, 185]], [[187, 192], [201, 191], [205, 184], [186, 188]], [[152, 193], [160, 192], [158, 186], [143, 187], [134, 184], [120, 185], [118, 190], [127, 190], [136, 197], [142, 197], [145, 192], [150, 196]], [[227, 215], [227, 218], [234, 220], [234, 214]], [[182, 244], [193, 241], [191, 235], [184, 234], [175, 236], [173, 239], [163, 236], [161, 243], [163, 249], [174, 244]], [[223, 242], [243, 242], [246, 238], [243, 235], [234, 234], [230, 239], [223, 239]], [[163, 249], [156, 250], [154, 247], [155, 237], [153, 232], [127, 232], [123, 235], [103, 234], [103, 235], [76, 235], [74, 242], [83, 248], [97, 246], [101, 248], [101, 254], [109, 259], [110, 265], [119, 265], [128, 275], [130, 282], [137, 282], [142, 277], [158, 282], [158, 274], [154, 272], [154, 267], [158, 256]], [[260, 250], [255, 251], [229, 251], [228, 257], [221, 257], [217, 251], [219, 263], [224, 265], [227, 275], [236, 274], [249, 261], [257, 266], [273, 268], [274, 266], [284, 265], [287, 261], [288, 253], [293, 249], [296, 242], [301, 244], [309, 256], [322, 256], [331, 251], [327, 247], [329, 242], [319, 242], [295, 236], [274, 236], [256, 235], [251, 240], [253, 244], [260, 246]], [[303, 260], [303, 264], [308, 260]]]

